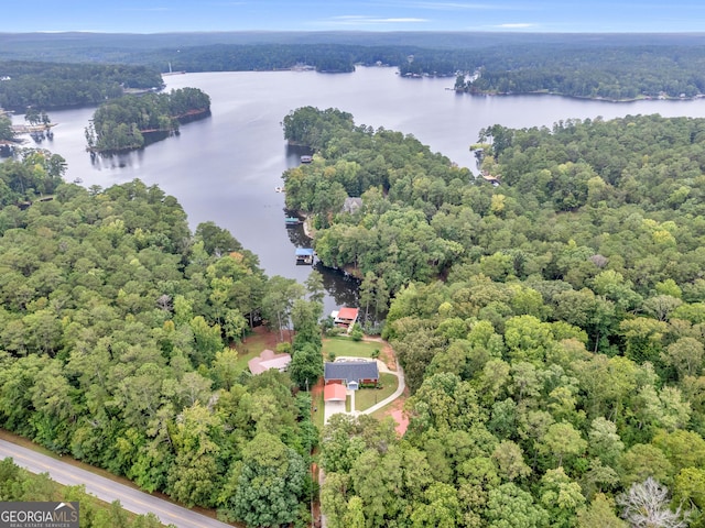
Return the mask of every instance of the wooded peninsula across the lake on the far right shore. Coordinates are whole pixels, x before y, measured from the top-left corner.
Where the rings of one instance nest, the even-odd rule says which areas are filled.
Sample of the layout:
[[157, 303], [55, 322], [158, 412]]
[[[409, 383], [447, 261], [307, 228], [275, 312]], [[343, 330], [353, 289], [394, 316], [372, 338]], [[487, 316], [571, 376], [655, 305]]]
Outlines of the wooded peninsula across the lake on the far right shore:
[[630, 100], [705, 94], [703, 46], [528, 48], [479, 52], [476, 74], [458, 78], [471, 94], [550, 92]]

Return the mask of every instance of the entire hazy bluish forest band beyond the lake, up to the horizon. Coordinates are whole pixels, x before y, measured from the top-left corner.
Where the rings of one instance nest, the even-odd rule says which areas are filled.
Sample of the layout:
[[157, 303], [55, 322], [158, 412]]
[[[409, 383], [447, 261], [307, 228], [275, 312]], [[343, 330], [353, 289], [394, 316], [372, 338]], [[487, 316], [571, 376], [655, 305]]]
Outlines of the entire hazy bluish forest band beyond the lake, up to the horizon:
[[[702, 35], [507, 33], [0, 34], [0, 106], [96, 105], [122, 87], [162, 86], [158, 72], [352, 72], [454, 76], [473, 94], [551, 92], [626, 100], [705, 94]], [[43, 63], [12, 62], [42, 61]], [[79, 65], [50, 64], [47, 61]], [[97, 64], [101, 63], [101, 64]], [[139, 66], [105, 66], [128, 64]], [[40, 81], [33, 80], [37, 74]], [[41, 75], [40, 75], [41, 74]], [[459, 75], [458, 75], [459, 74]]]

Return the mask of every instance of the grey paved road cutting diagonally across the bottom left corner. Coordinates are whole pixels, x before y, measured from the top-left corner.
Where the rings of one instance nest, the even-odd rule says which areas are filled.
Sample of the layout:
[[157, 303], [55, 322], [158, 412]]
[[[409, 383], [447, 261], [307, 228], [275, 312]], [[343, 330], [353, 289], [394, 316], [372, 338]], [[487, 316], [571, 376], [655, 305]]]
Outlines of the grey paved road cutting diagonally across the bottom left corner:
[[169, 501], [149, 495], [6, 440], [0, 440], [0, 459], [7, 458], [12, 458], [17, 465], [25, 468], [32, 473], [48, 473], [52, 480], [59, 484], [69, 486], [84, 484], [87, 493], [107, 503], [116, 499], [120, 501], [122, 507], [129, 512], [140, 515], [151, 512], [165, 525], [172, 524], [178, 528], [232, 528], [231, 525], [212, 519]]

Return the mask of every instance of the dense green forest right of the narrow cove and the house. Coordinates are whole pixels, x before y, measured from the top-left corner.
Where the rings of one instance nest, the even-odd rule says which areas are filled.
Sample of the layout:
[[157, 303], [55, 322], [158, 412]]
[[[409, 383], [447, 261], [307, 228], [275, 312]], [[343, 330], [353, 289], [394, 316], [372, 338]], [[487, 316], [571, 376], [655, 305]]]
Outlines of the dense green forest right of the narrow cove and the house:
[[412, 392], [402, 439], [326, 427], [332, 528], [705, 526], [705, 120], [491, 127], [498, 186], [339, 110], [284, 131], [316, 150], [288, 206], [370, 306], [393, 296]]

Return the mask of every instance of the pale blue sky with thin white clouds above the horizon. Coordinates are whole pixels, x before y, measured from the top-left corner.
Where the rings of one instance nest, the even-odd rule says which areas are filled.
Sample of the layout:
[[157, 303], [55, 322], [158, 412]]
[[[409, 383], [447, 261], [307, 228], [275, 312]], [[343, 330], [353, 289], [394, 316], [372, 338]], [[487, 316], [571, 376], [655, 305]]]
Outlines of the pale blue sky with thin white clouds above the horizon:
[[0, 32], [705, 32], [703, 0], [0, 0]]

